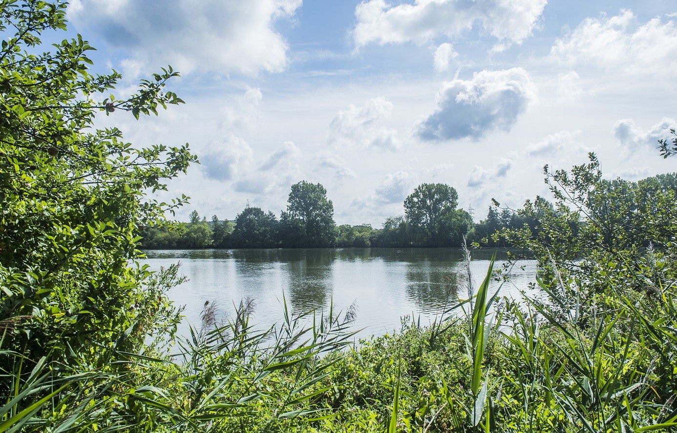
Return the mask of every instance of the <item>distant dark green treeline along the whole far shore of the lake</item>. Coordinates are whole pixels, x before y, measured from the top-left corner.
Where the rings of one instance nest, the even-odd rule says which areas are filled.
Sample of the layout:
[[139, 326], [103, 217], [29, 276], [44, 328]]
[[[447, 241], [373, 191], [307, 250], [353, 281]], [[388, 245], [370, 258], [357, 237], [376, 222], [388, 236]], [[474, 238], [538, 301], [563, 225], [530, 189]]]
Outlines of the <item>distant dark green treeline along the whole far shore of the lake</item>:
[[[599, 180], [609, 203], [604, 212], [619, 215], [619, 209], [632, 212], [656, 191], [677, 190], [676, 174], [659, 174], [639, 182]], [[280, 218], [271, 211], [247, 206], [234, 221], [207, 221], [197, 211], [185, 224], [149, 226], [142, 230], [146, 249], [202, 248], [313, 248], [313, 247], [460, 247], [466, 243], [486, 247], [515, 247], [510, 236], [502, 233], [528, 229], [539, 236], [547, 218], [563, 218], [567, 209], [559, 209], [542, 197], [527, 201], [522, 209], [501, 208], [494, 202], [486, 218], [473, 222], [464, 209], [456, 209], [456, 189], [446, 184], [420, 184], [404, 201], [404, 215], [391, 216], [383, 228], [370, 224], [337, 226], [334, 206], [321, 184], [303, 181], [292, 185], [288, 206]], [[613, 209], [612, 209], [613, 208]], [[582, 222], [569, 220], [572, 233]], [[610, 224], [614, 224], [611, 222]], [[622, 224], [615, 222], [615, 224]]]

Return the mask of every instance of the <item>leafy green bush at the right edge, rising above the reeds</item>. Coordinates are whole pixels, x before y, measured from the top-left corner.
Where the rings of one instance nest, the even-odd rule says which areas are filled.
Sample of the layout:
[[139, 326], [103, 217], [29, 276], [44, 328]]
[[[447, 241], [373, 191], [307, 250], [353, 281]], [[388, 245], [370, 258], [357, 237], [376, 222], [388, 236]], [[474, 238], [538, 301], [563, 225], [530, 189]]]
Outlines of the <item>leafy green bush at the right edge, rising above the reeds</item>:
[[[526, 224], [503, 229], [501, 237], [529, 249], [544, 270], [556, 263], [559, 272], [575, 276], [595, 275], [600, 269], [619, 275], [616, 268], [621, 266], [630, 269], [623, 272], [638, 272], [634, 267], [647, 249], [660, 255], [674, 247], [674, 174], [639, 182], [607, 180], [594, 153], [589, 159], [569, 171], [553, 172], [546, 165], [554, 205], [541, 197], [527, 200], [518, 211]], [[554, 273], [544, 275], [559, 280]], [[595, 288], [603, 290], [603, 284]]]

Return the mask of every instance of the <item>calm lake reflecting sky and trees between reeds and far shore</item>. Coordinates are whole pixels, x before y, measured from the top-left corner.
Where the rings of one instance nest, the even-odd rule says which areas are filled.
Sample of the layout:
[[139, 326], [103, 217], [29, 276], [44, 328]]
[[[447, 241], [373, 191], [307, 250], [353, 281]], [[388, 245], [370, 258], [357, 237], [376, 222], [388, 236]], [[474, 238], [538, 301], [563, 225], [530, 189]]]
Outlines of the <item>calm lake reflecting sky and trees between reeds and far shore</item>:
[[[486, 275], [494, 251], [472, 252], [471, 273], [479, 284]], [[146, 251], [144, 263], [152, 270], [180, 263], [179, 272], [188, 281], [173, 288], [169, 298], [185, 305], [179, 334], [188, 334], [188, 324], [199, 328], [204, 303], [215, 303], [217, 312], [231, 317], [240, 300], [251, 297], [255, 310], [250, 323], [263, 329], [283, 317], [283, 295], [294, 312], [328, 309], [357, 313], [358, 336], [381, 335], [401, 328], [400, 318], [409, 315], [429, 324], [447, 305], [450, 288], [461, 282], [459, 296], [466, 295], [461, 249], [207, 249]], [[498, 256], [500, 268], [505, 256]], [[510, 280], [502, 283], [501, 295], [519, 298], [535, 281], [536, 262], [521, 261]], [[459, 275], [460, 273], [460, 275]], [[492, 282], [495, 290], [500, 282]]]

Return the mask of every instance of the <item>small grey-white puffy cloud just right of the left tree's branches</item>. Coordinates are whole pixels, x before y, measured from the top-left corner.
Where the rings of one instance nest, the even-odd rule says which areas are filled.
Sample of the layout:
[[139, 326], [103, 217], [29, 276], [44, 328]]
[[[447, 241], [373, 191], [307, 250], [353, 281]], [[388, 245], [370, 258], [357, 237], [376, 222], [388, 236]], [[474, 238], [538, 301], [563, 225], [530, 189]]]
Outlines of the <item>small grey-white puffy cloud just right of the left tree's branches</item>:
[[241, 166], [252, 159], [252, 148], [240, 137], [231, 135], [222, 140], [210, 141], [200, 152], [204, 176], [214, 180], [231, 180]]

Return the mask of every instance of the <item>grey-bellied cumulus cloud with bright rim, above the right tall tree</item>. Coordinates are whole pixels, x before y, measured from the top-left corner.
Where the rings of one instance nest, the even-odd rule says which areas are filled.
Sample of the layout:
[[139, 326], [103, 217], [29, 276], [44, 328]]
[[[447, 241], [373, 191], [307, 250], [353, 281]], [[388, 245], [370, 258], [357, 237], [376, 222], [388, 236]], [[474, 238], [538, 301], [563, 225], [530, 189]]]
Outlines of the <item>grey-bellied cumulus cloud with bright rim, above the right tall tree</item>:
[[437, 109], [416, 127], [428, 141], [481, 138], [493, 130], [508, 131], [536, 99], [536, 86], [522, 68], [482, 71], [472, 80], [444, 82]]

